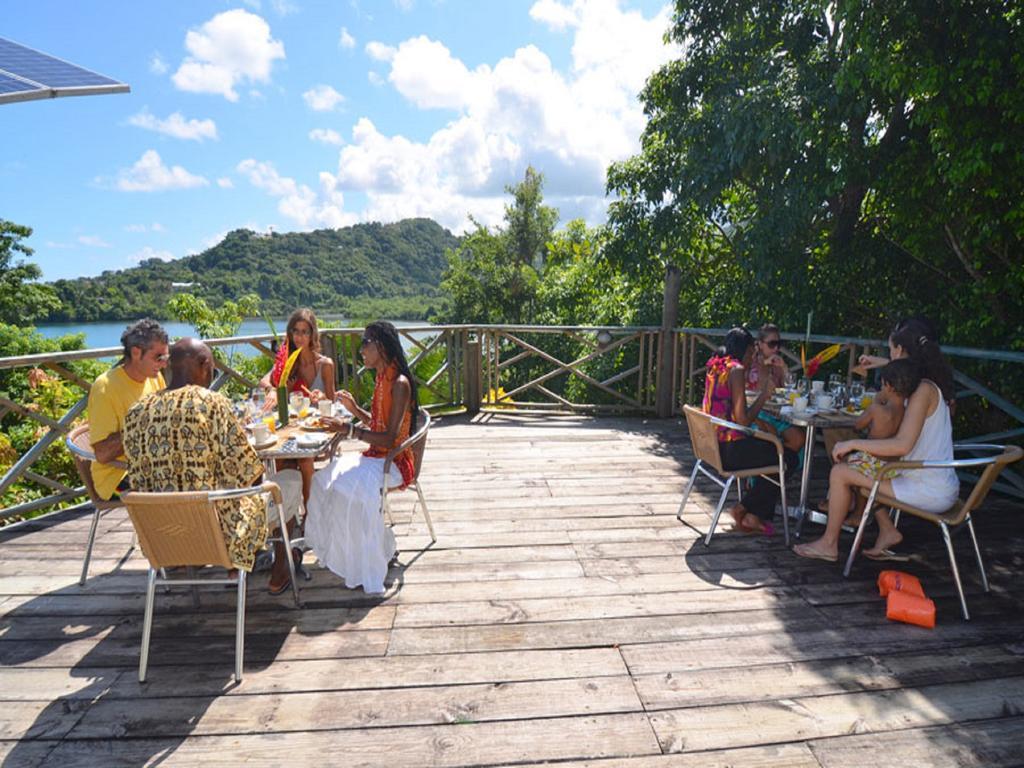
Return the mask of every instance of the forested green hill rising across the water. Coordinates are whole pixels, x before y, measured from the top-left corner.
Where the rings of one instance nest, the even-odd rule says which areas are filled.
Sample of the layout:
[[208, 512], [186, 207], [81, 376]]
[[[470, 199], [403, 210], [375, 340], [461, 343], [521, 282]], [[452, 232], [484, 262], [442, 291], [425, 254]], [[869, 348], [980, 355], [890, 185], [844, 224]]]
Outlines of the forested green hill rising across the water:
[[[265, 310], [284, 315], [297, 306], [361, 314], [424, 316], [437, 296], [446, 260], [459, 239], [430, 219], [356, 224], [343, 229], [258, 234], [236, 229], [213, 248], [174, 261], [151, 259], [98, 278], [52, 284], [62, 302], [50, 321], [169, 318], [167, 301], [186, 291], [219, 305], [255, 293]], [[173, 287], [172, 284], [191, 284]]]

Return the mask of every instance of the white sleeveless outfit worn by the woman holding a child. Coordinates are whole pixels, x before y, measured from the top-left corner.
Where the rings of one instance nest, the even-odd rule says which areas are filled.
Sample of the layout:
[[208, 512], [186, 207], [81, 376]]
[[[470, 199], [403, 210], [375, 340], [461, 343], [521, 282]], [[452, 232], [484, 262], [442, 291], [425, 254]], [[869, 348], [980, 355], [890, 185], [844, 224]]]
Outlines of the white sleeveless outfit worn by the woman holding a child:
[[[953, 428], [949, 420], [949, 407], [942, 399], [942, 391], [935, 382], [923, 379], [922, 386], [935, 388], [939, 404], [935, 413], [925, 419], [910, 453], [905, 461], [941, 461], [953, 459]], [[918, 469], [894, 477], [893, 495], [902, 502], [928, 512], [945, 512], [959, 496], [959, 480], [952, 469]]]

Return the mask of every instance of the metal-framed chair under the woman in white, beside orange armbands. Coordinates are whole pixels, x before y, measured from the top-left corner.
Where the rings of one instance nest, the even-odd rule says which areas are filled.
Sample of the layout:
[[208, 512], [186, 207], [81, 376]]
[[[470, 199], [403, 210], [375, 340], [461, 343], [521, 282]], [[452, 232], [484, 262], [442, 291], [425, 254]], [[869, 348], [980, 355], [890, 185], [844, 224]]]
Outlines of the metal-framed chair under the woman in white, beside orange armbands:
[[[843, 568], [843, 575], [850, 575], [850, 569], [853, 567], [853, 560], [857, 556], [857, 552], [860, 549], [861, 542], [864, 538], [864, 529], [867, 527], [867, 520], [871, 517], [870, 513], [874, 508], [876, 501], [879, 501], [889, 507], [890, 512], [894, 514], [895, 524], [897, 525], [899, 524], [900, 513], [906, 512], [909, 515], [928, 520], [929, 522], [939, 526], [939, 529], [942, 531], [942, 541], [946, 545], [946, 553], [949, 556], [949, 568], [953, 574], [953, 582], [956, 584], [956, 594], [959, 596], [961, 612], [964, 615], [964, 621], [970, 621], [971, 614], [967, 609], [967, 598], [964, 595], [964, 585], [961, 582], [959, 568], [956, 567], [956, 553], [953, 551], [950, 529], [962, 524], [967, 525], [967, 529], [971, 534], [971, 542], [974, 545], [974, 556], [978, 561], [978, 570], [981, 574], [982, 588], [985, 592], [990, 592], [991, 590], [988, 585], [988, 575], [985, 573], [985, 562], [981, 557], [981, 548], [978, 546], [978, 537], [974, 530], [974, 521], [971, 519], [971, 514], [978, 509], [981, 503], [985, 500], [985, 497], [988, 496], [988, 492], [991, 488], [992, 483], [995, 482], [995, 478], [998, 476], [999, 472], [1002, 471], [1002, 468], [1008, 464], [1018, 461], [1022, 456], [1024, 456], [1024, 450], [1017, 445], [997, 445], [994, 443], [961, 443], [953, 445], [954, 455], [957, 453], [979, 454], [986, 452], [998, 452], [998, 455], [980, 459], [956, 459], [948, 462], [895, 461], [888, 462], [883, 465], [876, 473], [874, 482], [871, 485], [870, 492], [866, 488], [860, 489], [862, 495], [866, 494], [867, 503], [864, 506], [864, 514], [860, 518], [860, 524], [857, 526], [857, 534], [854, 536], [853, 546], [850, 548], [850, 554], [847, 556], [846, 566]], [[939, 514], [916, 509], [911, 505], [900, 503], [898, 499], [890, 498], [884, 495], [880, 496], [879, 494], [879, 485], [882, 484], [888, 470], [898, 469], [901, 472], [911, 472], [921, 469], [977, 469], [981, 467], [984, 467], [981, 478], [974, 486], [974, 489], [971, 492], [971, 495], [967, 498], [967, 500], [963, 502], [957, 500], [949, 510]]]

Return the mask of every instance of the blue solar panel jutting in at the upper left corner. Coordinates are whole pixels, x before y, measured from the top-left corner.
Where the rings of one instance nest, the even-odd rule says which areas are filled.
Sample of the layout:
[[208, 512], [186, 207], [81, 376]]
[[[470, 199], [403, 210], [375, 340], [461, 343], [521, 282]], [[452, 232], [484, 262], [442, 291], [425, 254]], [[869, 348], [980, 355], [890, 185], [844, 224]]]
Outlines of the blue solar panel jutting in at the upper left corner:
[[128, 90], [117, 80], [0, 38], [0, 103]]

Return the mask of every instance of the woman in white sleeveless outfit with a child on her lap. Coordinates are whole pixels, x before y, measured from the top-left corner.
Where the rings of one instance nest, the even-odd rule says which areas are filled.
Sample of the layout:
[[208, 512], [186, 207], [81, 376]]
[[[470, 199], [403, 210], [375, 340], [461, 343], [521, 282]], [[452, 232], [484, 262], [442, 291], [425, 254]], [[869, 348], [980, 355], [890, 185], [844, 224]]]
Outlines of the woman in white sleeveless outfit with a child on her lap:
[[[897, 327], [889, 337], [892, 359], [909, 357], [921, 368], [923, 378], [907, 401], [906, 412], [894, 437], [883, 440], [844, 440], [836, 443], [833, 458], [836, 465], [828, 477], [828, 523], [820, 539], [794, 547], [801, 557], [835, 562], [839, 559], [839, 535], [846, 519], [853, 495], [858, 487], [869, 488], [874, 478], [868, 477], [842, 459], [854, 451], [863, 451], [890, 461], [952, 461], [952, 424], [946, 401], [952, 396], [952, 373], [938, 344], [927, 336], [913, 336], [912, 327]], [[951, 469], [919, 469], [883, 480], [879, 490], [929, 512], [945, 512], [959, 495], [959, 481]], [[876, 512], [879, 538], [867, 557], [882, 558], [892, 547], [903, 541], [885, 510]]]

